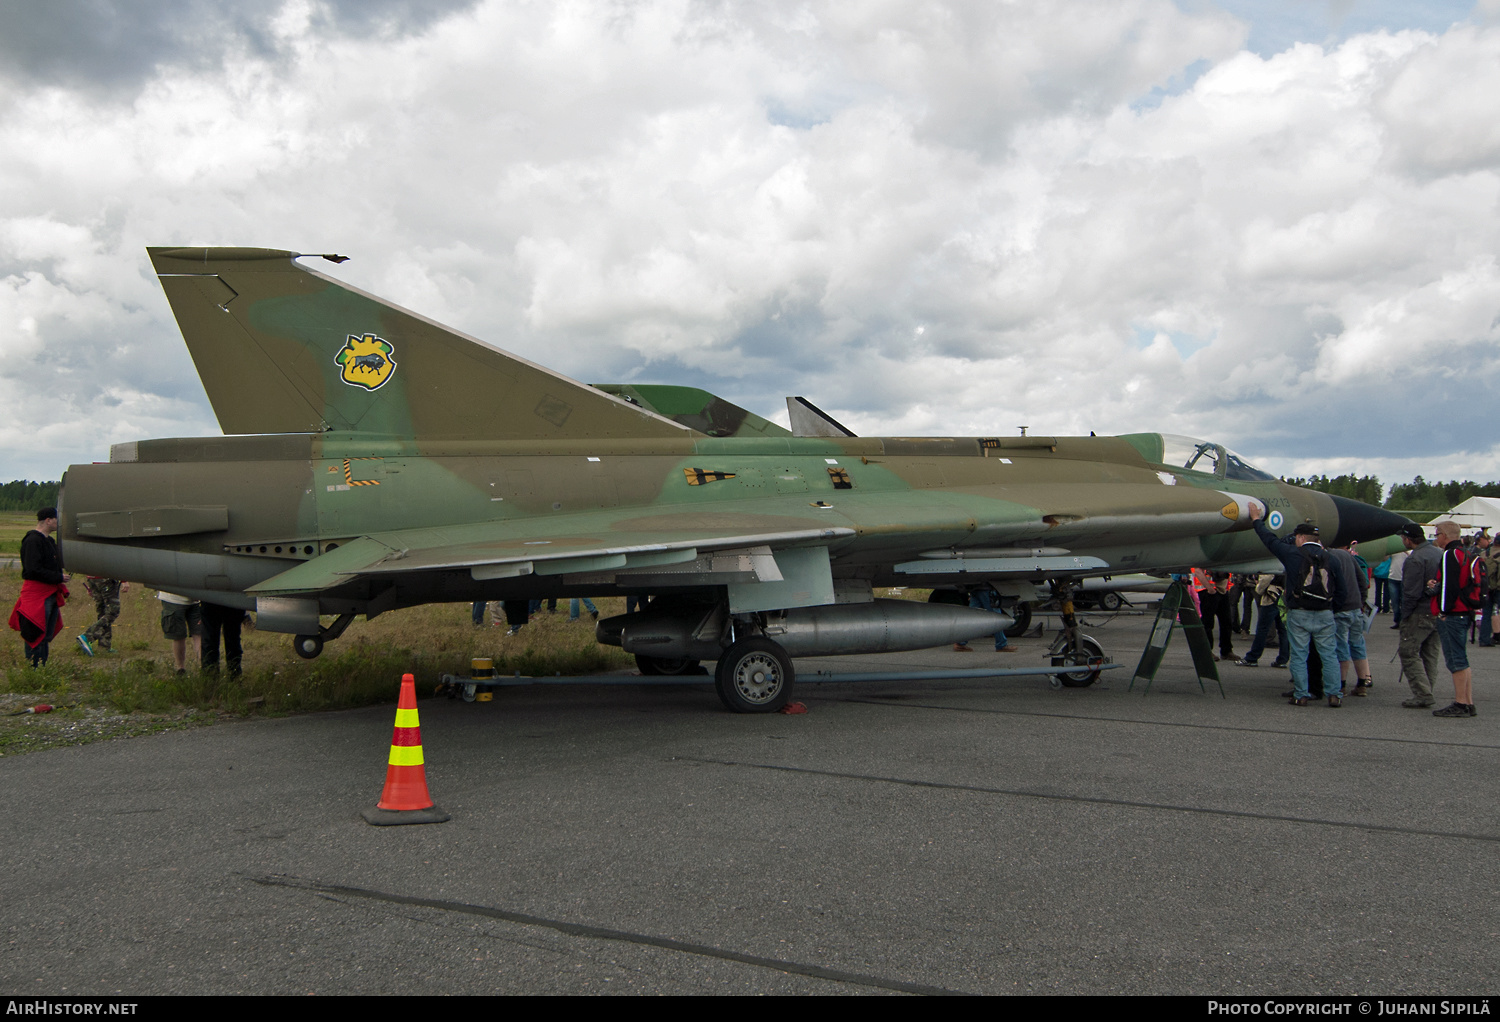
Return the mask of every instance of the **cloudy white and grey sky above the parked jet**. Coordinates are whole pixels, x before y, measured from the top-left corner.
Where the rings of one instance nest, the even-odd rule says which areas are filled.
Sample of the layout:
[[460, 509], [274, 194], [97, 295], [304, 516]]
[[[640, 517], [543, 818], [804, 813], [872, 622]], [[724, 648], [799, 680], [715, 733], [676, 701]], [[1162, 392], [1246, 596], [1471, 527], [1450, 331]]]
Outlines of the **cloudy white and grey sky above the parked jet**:
[[218, 432], [147, 245], [861, 434], [1500, 477], [1500, 0], [0, 0], [0, 479]]

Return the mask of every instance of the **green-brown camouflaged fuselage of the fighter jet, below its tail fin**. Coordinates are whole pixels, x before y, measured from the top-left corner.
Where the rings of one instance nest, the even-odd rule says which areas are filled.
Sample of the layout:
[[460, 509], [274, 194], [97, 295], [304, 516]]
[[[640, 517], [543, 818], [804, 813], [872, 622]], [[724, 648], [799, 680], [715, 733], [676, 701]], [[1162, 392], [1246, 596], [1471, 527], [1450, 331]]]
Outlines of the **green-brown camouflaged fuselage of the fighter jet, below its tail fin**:
[[[1040, 443], [1044, 441], [1044, 443]], [[1107, 504], [1101, 500], [1107, 497]], [[1252, 566], [1245, 500], [1284, 525], [1340, 506], [1281, 482], [1144, 461], [1116, 437], [412, 441], [346, 434], [152, 440], [74, 465], [60, 500], [72, 572], [248, 609], [246, 590], [368, 534], [546, 522], [684, 533], [837, 530], [834, 579], [934, 587]], [[586, 516], [579, 519], [578, 516]], [[500, 539], [496, 524], [501, 527]], [[576, 530], [573, 530], [576, 531]], [[608, 545], [602, 536], [602, 545]], [[548, 551], [552, 552], [552, 551]], [[608, 566], [606, 566], [608, 567]], [[651, 591], [670, 590], [660, 579]], [[423, 570], [315, 594], [322, 614], [424, 602], [640, 591], [608, 570]]]

